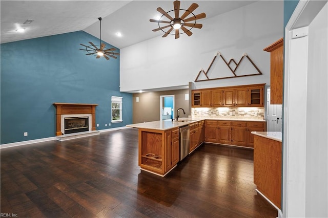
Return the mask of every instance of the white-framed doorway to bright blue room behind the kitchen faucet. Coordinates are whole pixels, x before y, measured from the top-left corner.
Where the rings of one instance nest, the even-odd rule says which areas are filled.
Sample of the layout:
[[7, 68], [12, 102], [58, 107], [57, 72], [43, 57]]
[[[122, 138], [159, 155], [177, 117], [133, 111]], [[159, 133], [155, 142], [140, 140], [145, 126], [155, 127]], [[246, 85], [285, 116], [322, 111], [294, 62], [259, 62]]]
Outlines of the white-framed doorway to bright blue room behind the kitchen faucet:
[[174, 95], [159, 96], [159, 120], [169, 120], [174, 118]]

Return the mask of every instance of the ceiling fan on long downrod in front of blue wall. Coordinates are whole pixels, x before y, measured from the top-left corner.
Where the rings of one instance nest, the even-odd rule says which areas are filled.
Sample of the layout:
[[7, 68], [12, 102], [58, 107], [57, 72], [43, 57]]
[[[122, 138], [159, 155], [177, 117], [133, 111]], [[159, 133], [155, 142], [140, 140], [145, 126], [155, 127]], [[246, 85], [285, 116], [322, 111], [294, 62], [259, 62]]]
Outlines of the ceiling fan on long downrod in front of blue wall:
[[96, 58], [105, 57], [107, 60], [109, 60], [112, 57], [116, 59], [117, 57], [115, 57], [114, 55], [119, 55], [119, 53], [113, 52], [116, 49], [115, 48], [108, 49], [106, 48], [105, 43], [101, 43], [101, 17], [99, 17], [98, 19], [100, 21], [100, 40], [99, 40], [100, 48], [98, 49], [97, 46], [94, 45], [94, 43], [89, 41], [90, 46], [86, 46], [80, 43], [81, 46], [86, 47], [85, 49], [80, 49], [80, 50], [87, 51], [88, 54], [86, 55], [94, 55], [96, 56]]

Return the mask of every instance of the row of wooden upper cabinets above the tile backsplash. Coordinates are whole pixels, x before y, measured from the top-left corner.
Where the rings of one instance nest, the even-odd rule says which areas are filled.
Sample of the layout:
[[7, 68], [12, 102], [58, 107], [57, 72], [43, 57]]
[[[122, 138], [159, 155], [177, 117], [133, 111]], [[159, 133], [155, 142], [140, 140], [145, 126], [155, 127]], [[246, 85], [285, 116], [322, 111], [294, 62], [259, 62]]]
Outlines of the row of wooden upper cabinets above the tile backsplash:
[[192, 107], [264, 106], [264, 84], [192, 91]]

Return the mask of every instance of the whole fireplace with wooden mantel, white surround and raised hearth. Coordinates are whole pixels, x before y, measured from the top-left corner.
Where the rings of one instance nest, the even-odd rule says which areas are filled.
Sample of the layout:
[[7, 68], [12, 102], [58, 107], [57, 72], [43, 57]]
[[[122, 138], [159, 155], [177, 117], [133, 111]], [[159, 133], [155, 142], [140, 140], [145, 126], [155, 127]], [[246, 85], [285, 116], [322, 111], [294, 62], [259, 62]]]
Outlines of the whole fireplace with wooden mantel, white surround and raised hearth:
[[[72, 138], [97, 135], [96, 131], [96, 106], [98, 104], [77, 104], [77, 103], [53, 103], [56, 107], [56, 137], [63, 141]], [[65, 133], [64, 118], [85, 118], [88, 119], [88, 128], [84, 132]]]

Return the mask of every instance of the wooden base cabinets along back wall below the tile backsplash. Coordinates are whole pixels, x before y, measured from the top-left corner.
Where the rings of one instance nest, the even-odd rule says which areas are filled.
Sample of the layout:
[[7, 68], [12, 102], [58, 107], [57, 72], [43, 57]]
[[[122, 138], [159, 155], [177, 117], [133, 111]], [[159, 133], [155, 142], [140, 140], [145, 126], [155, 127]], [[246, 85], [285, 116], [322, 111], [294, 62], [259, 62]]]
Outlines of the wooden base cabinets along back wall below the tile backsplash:
[[221, 121], [206, 120], [205, 141], [238, 145], [243, 147], [254, 146], [253, 131], [264, 132], [267, 129], [263, 121]]

